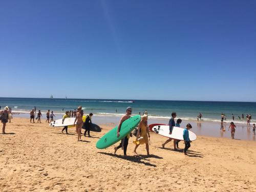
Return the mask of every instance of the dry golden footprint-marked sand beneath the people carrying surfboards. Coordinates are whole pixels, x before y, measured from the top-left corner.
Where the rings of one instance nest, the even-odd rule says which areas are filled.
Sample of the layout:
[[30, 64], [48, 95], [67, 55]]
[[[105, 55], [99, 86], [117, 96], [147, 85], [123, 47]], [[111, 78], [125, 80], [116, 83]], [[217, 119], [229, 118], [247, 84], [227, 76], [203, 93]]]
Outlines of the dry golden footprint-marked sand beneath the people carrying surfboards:
[[[255, 141], [198, 136], [189, 156], [173, 151], [173, 143], [151, 134], [150, 153], [129, 140], [127, 157], [114, 146], [98, 150], [99, 137], [78, 142], [48, 123], [14, 118], [0, 135], [0, 191], [256, 191]], [[2, 126], [2, 124], [1, 124]], [[2, 129], [2, 127], [1, 127]], [[181, 141], [180, 147], [184, 144]]]

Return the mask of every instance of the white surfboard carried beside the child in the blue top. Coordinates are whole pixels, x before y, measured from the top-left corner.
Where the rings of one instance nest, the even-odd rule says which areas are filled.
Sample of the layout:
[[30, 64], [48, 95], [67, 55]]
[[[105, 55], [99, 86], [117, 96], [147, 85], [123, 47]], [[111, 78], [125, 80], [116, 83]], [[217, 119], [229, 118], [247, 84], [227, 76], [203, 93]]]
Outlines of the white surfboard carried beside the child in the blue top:
[[[174, 126], [172, 135], [169, 135], [169, 125], [156, 125], [153, 126], [152, 131], [155, 133], [162, 135], [164, 137], [169, 137], [172, 139], [184, 140], [183, 139], [183, 128]], [[197, 139], [197, 135], [191, 131], [188, 131], [190, 141], [195, 141]]]

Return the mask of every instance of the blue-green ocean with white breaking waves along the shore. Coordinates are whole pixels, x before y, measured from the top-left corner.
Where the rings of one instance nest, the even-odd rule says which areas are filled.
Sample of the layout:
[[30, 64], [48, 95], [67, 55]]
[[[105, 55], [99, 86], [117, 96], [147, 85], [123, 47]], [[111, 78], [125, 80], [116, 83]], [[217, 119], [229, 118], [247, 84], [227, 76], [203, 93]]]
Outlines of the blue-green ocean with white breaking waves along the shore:
[[231, 120], [234, 114], [234, 121], [237, 123], [246, 122], [246, 114], [252, 115], [252, 122], [255, 122], [253, 119], [256, 117], [256, 102], [1, 97], [1, 109], [6, 105], [12, 108], [12, 112], [21, 114], [29, 113], [36, 107], [36, 111], [41, 110], [45, 113], [51, 110], [61, 115], [81, 105], [85, 114], [93, 113], [96, 116], [121, 116], [127, 106], [131, 106], [133, 114], [142, 114], [147, 110], [149, 117], [156, 119], [169, 119], [172, 112], [176, 112], [177, 118], [184, 120], [196, 120], [199, 113], [203, 115], [204, 121], [220, 121], [221, 113], [226, 114], [227, 120]]

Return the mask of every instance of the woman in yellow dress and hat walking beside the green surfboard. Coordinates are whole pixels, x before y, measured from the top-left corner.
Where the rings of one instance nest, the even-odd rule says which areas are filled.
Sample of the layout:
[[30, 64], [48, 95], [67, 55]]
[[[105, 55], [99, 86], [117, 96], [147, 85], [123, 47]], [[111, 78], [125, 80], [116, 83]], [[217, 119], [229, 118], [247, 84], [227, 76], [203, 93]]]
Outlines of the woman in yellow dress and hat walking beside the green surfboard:
[[144, 144], [144, 143], [146, 144], [146, 153], [147, 155], [150, 155], [147, 137], [150, 138], [150, 133], [148, 132], [148, 127], [147, 127], [147, 114], [144, 113], [139, 123], [139, 129], [137, 132], [136, 140], [133, 142], [134, 144], [136, 144], [134, 148], [134, 155], [138, 155], [136, 150], [140, 144]]

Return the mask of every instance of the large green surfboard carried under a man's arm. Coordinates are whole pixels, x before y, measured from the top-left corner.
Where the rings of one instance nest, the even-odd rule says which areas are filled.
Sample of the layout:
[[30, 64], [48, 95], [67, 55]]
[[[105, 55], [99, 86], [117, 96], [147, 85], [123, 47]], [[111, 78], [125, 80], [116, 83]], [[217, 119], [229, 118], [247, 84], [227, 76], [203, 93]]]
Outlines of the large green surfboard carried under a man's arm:
[[140, 115], [135, 115], [133, 117], [130, 117], [129, 119], [123, 121], [120, 129], [120, 135], [119, 137], [116, 136], [118, 125], [114, 127], [112, 130], [110, 130], [108, 133], [103, 135], [98, 142], [96, 143], [97, 148], [106, 148], [109, 147], [116, 142], [123, 139], [126, 135], [128, 135], [131, 131], [135, 129], [135, 127], [140, 122]]

